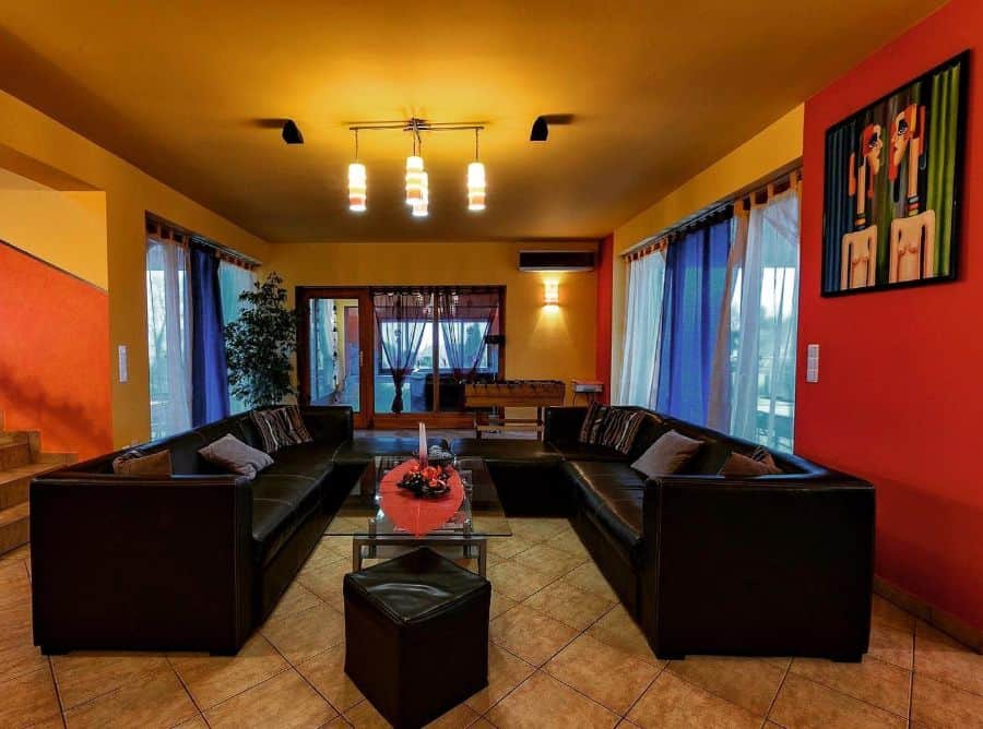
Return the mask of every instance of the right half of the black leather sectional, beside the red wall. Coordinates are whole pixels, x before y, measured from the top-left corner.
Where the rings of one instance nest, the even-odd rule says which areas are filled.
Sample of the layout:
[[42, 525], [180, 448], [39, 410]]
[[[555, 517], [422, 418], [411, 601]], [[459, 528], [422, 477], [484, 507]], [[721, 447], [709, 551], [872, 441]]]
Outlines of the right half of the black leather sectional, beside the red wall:
[[[636, 409], [636, 408], [632, 408]], [[793, 455], [781, 475], [724, 478], [756, 444], [647, 411], [626, 456], [579, 443], [587, 408], [546, 410], [543, 442], [459, 439], [511, 514], [568, 516], [656, 655], [822, 656], [867, 650], [874, 489]], [[702, 440], [678, 474], [630, 467], [670, 429]]]

